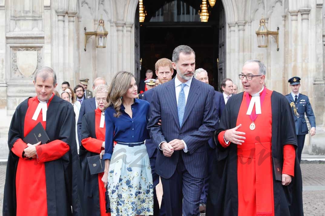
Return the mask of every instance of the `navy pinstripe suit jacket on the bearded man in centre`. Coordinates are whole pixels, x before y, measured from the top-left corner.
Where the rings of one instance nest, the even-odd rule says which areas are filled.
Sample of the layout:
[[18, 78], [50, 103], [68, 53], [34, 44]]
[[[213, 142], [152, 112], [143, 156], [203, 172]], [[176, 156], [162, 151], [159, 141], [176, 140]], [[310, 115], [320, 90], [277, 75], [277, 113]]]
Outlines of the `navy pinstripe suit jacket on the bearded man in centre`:
[[[211, 85], [192, 79], [181, 126], [178, 120], [175, 78], [155, 87], [150, 105], [148, 129], [159, 150], [156, 173], [163, 178], [170, 178], [175, 172], [181, 154], [187, 171], [196, 178], [205, 178], [208, 140], [216, 130], [217, 116], [214, 89]], [[157, 124], [160, 119], [161, 126]], [[188, 152], [174, 151], [171, 157], [165, 157], [159, 149], [159, 144], [174, 139], [184, 140]]]

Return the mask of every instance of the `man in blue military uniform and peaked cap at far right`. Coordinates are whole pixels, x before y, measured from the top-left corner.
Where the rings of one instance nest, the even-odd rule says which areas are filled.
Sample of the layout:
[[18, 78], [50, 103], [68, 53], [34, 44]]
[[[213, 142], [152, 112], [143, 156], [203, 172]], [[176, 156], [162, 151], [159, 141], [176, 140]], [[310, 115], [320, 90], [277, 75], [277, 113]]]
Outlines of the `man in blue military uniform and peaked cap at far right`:
[[292, 77], [288, 80], [288, 82], [290, 83], [292, 91], [290, 94], [286, 95], [286, 98], [288, 99], [290, 106], [293, 110], [298, 142], [298, 158], [300, 162], [301, 152], [305, 143], [305, 135], [308, 133], [308, 127], [305, 120], [305, 113], [311, 126], [311, 136], [315, 135], [316, 133], [315, 116], [313, 109], [311, 108], [311, 105], [309, 103], [308, 96], [299, 93], [300, 78]]

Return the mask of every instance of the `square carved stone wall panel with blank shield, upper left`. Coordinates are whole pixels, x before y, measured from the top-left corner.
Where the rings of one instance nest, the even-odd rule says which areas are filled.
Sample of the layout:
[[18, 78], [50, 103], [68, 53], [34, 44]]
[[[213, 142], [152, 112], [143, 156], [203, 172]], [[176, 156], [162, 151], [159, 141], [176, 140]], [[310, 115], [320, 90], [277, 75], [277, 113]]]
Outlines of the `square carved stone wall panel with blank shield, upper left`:
[[43, 66], [42, 47], [11, 47], [10, 79], [33, 78]]

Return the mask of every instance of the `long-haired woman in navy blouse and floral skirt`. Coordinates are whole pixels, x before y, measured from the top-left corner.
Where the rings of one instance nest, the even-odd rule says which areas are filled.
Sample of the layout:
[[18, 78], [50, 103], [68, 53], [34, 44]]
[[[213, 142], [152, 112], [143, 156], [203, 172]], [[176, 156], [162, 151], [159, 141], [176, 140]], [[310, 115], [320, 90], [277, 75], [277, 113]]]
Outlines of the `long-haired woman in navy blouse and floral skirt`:
[[153, 215], [152, 175], [144, 144], [149, 138], [149, 103], [137, 99], [134, 76], [125, 71], [113, 77], [107, 101], [102, 181], [107, 184], [111, 215]]

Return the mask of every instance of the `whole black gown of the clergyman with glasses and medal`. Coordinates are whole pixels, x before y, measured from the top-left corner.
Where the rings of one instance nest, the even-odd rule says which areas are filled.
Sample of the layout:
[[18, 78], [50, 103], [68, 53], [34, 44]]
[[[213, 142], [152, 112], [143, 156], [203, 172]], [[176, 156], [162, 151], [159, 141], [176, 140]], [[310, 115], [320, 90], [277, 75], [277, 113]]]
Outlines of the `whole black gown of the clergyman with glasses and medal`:
[[[238, 215], [237, 145], [222, 147], [218, 143], [218, 134], [237, 126], [242, 97], [243, 93], [239, 93], [229, 98], [215, 133], [217, 149], [210, 178], [206, 216]], [[278, 92], [273, 91], [271, 105], [272, 157], [283, 158], [283, 145], [297, 146], [293, 113], [287, 99]], [[302, 177], [297, 152], [291, 184], [282, 186], [281, 182], [273, 177], [273, 194], [275, 216], [304, 215]]]

